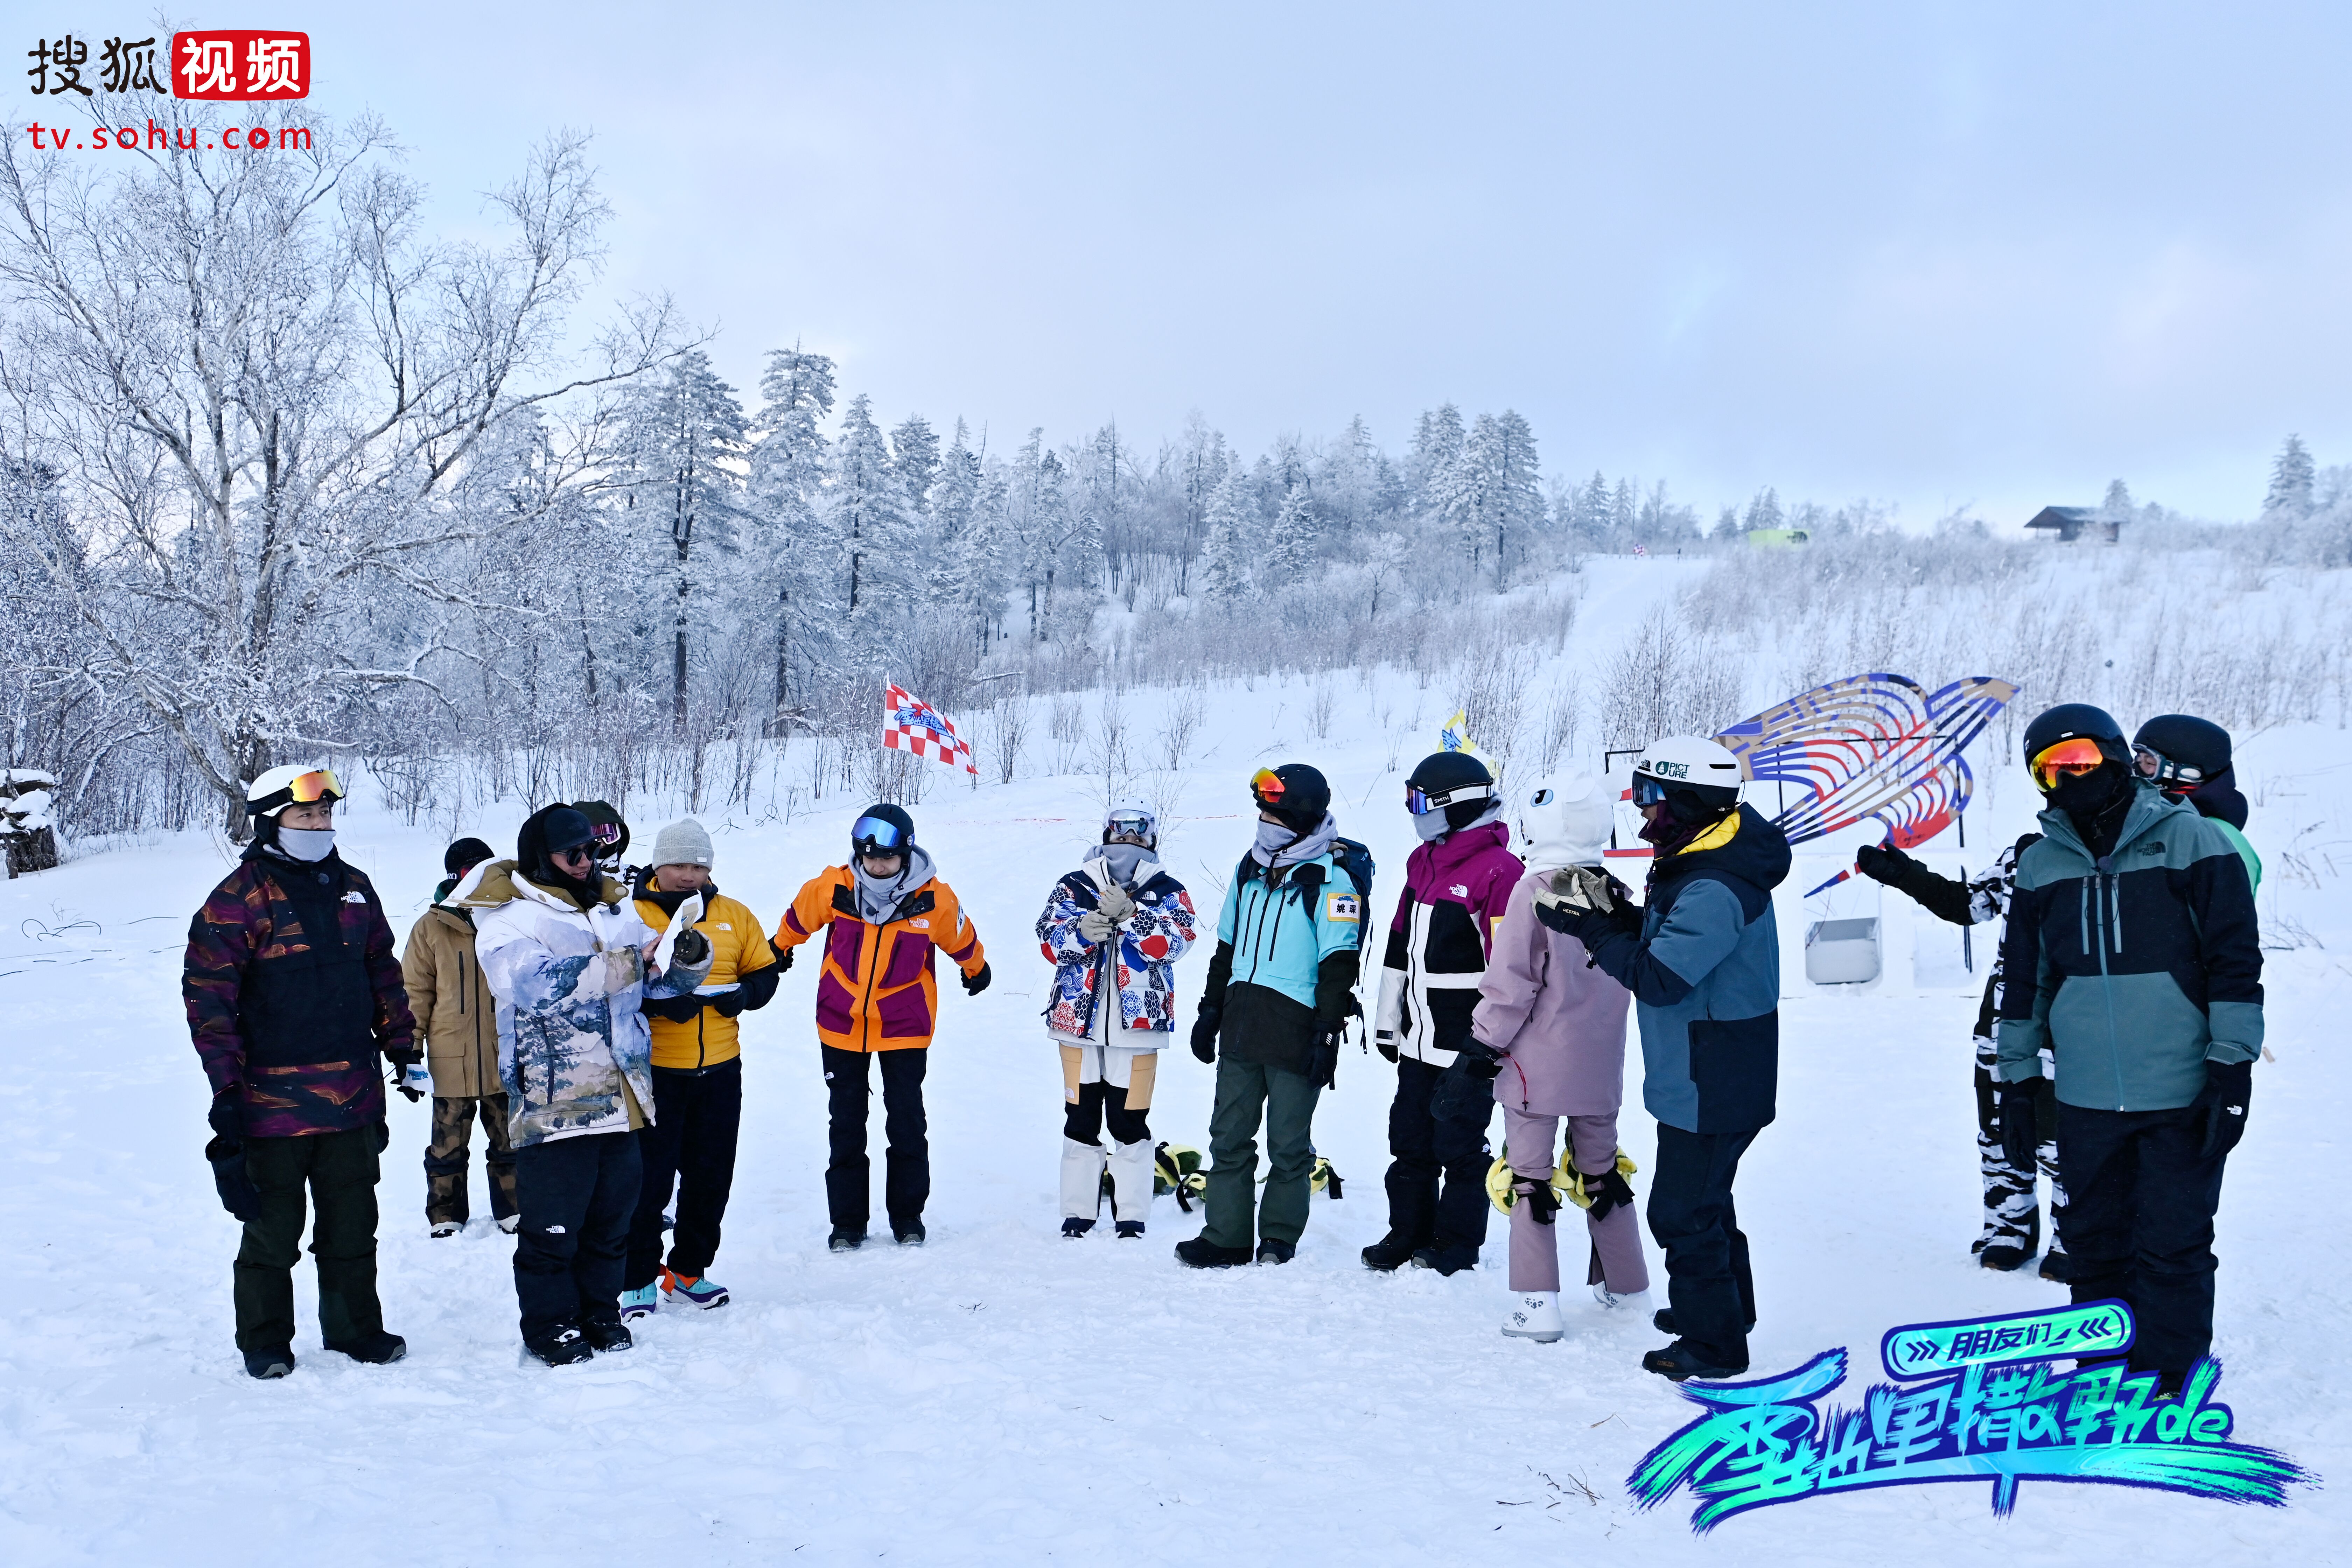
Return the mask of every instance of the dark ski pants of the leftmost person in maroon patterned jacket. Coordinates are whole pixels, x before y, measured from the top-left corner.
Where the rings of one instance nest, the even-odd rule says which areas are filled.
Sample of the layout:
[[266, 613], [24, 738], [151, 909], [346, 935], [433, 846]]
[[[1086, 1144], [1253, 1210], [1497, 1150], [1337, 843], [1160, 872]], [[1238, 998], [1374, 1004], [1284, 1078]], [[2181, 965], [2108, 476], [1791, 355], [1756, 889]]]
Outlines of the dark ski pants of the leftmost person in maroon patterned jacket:
[[245, 1175], [261, 1213], [238, 1246], [238, 1349], [294, 1342], [294, 1265], [301, 1260], [303, 1190], [318, 1206], [310, 1258], [318, 1260], [318, 1333], [327, 1345], [383, 1331], [376, 1300], [376, 1157], [386, 1128], [301, 1138], [247, 1138]]

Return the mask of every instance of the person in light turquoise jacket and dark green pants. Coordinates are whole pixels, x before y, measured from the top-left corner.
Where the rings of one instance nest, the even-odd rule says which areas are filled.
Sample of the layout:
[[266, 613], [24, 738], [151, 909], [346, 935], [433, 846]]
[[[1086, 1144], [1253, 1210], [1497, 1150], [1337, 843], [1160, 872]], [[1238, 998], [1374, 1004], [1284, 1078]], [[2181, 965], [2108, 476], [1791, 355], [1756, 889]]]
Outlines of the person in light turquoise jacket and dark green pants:
[[[1338, 1070], [1352, 1011], [1364, 910], [1338, 865], [1331, 785], [1303, 762], [1251, 780], [1258, 842], [1225, 886], [1216, 957], [1192, 1023], [1192, 1056], [1216, 1063], [1209, 1114], [1209, 1220], [1176, 1244], [1178, 1262], [1221, 1269], [1289, 1262], [1308, 1227], [1315, 1100]], [[1265, 1204], [1256, 1206], [1258, 1121]]]

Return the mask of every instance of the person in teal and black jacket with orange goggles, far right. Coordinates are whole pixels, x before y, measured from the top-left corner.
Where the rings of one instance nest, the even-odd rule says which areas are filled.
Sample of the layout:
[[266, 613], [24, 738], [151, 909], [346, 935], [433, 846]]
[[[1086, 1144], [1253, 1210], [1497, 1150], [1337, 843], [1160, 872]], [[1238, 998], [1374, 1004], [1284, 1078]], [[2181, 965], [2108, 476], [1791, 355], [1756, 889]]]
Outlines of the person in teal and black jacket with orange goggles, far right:
[[2049, 1048], [2067, 1284], [2124, 1300], [2131, 1371], [2178, 1394], [2213, 1342], [2213, 1208], [2263, 1053], [2253, 882], [2218, 820], [2133, 769], [2107, 712], [2051, 708], [2025, 766], [2051, 809], [2002, 940], [2002, 1124], [2030, 1126]]

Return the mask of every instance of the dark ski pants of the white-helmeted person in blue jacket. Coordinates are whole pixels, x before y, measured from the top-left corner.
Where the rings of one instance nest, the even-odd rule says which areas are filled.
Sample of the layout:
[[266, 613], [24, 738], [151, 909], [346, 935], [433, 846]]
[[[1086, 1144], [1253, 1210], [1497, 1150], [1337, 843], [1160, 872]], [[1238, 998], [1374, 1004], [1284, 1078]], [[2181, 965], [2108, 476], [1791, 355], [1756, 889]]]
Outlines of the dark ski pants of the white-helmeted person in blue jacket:
[[1731, 1204], [1745, 1133], [1684, 1133], [1658, 1124], [1658, 1168], [1649, 1178], [1649, 1234], [1665, 1248], [1665, 1298], [1675, 1335], [1715, 1366], [1748, 1366], [1757, 1286], [1748, 1237]]

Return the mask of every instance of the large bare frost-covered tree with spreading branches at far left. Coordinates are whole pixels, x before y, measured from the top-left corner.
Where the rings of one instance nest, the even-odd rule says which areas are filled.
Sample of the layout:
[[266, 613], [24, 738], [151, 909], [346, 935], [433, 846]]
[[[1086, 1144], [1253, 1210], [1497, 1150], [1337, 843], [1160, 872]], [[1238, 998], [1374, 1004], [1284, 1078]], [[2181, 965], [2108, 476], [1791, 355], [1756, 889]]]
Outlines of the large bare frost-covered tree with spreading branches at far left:
[[[188, 108], [209, 148], [219, 120]], [[238, 835], [247, 778], [348, 743], [388, 686], [437, 691], [459, 607], [423, 567], [468, 534], [445, 498], [485, 437], [670, 353], [654, 303], [548, 374], [609, 219], [581, 139], [494, 193], [499, 237], [447, 244], [376, 122], [301, 120], [310, 150], [270, 158], [0, 150], [0, 390], [103, 552], [54, 590], [87, 677], [179, 743]]]

